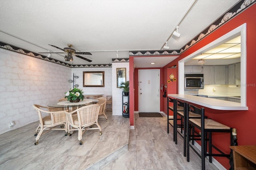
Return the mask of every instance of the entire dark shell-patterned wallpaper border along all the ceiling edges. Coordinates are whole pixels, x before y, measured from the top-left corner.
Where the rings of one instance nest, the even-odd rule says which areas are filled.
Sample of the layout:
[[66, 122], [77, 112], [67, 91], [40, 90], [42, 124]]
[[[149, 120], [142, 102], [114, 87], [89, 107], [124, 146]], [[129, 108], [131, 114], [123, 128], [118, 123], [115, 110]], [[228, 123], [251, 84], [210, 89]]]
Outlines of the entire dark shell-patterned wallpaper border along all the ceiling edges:
[[[230, 10], [228, 10], [225, 14], [223, 14], [220, 18], [218, 18], [216, 21], [214, 21], [209, 27], [204, 29], [201, 33], [199, 33], [196, 37], [194, 37], [190, 42], [188, 42], [186, 45], [184, 45], [180, 50], [158, 50], [158, 51], [129, 51], [129, 56], [145, 56], [145, 55], [180, 55], [202, 39], [204, 39], [207, 35], [227, 23], [229, 20], [240, 14], [242, 11], [246, 10], [250, 6], [256, 3], [256, 0], [240, 0], [235, 4]], [[61, 64], [64, 66], [68, 66], [71, 68], [83, 68], [83, 67], [112, 67], [112, 64], [85, 64], [85, 65], [79, 65], [79, 64], [68, 64], [64, 63], [62, 61], [58, 61], [56, 59], [48, 58], [44, 55], [40, 55], [38, 53], [34, 53], [32, 51], [28, 51], [26, 49], [21, 49], [19, 47], [16, 47], [14, 45], [9, 45], [7, 43], [0, 41], [0, 48], [6, 49], [9, 51], [14, 51], [16, 53], [21, 53], [24, 55], [28, 55], [30, 57], [35, 57], [38, 59], [50, 61], [52, 63]], [[129, 59], [112, 59], [112, 62], [129, 62]]]

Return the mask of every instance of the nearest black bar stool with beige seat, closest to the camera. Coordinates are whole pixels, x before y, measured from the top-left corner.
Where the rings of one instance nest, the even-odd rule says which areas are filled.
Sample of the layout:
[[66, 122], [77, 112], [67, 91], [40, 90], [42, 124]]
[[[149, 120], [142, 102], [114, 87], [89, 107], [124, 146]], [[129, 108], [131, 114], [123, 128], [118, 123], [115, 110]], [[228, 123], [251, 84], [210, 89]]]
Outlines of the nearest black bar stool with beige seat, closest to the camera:
[[[195, 113], [197, 115], [200, 115], [200, 118], [194, 118], [190, 117], [190, 113]], [[215, 147], [212, 144], [212, 132], [219, 132], [219, 133], [229, 133], [230, 134], [230, 145], [231, 145], [231, 140], [232, 140], [232, 128], [223, 125], [222, 123], [219, 123], [217, 121], [214, 121], [212, 119], [206, 119], [204, 116], [204, 108], [198, 108], [196, 106], [193, 106], [191, 104], [186, 104], [186, 111], [185, 111], [185, 119], [186, 119], [186, 150], [187, 150], [187, 161], [189, 162], [189, 148], [194, 150], [196, 154], [201, 158], [201, 164], [202, 164], [202, 170], [205, 170], [205, 157], [209, 156], [209, 162], [212, 162], [212, 156], [222, 156], [222, 157], [227, 157], [230, 158], [230, 154], [225, 154], [222, 152], [220, 149]], [[192, 125], [193, 127], [199, 129], [201, 131], [201, 134], [198, 133], [198, 135], [194, 135], [190, 133], [189, 125]], [[207, 137], [209, 135], [209, 137]], [[207, 139], [208, 138], [208, 139]], [[201, 141], [201, 154], [192, 147], [190, 144], [190, 141], [198, 140]], [[209, 150], [207, 153], [207, 141], [209, 141]], [[212, 153], [212, 148], [216, 149], [218, 154]]]

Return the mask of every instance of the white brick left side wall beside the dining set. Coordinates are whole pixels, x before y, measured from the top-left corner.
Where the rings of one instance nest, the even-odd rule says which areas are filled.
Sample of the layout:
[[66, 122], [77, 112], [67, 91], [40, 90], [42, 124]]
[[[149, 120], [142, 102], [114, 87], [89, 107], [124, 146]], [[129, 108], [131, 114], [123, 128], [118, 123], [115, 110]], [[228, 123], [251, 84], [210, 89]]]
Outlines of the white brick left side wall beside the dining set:
[[[32, 104], [64, 97], [72, 69], [0, 49], [0, 134], [38, 121]], [[10, 121], [14, 127], [9, 128]]]

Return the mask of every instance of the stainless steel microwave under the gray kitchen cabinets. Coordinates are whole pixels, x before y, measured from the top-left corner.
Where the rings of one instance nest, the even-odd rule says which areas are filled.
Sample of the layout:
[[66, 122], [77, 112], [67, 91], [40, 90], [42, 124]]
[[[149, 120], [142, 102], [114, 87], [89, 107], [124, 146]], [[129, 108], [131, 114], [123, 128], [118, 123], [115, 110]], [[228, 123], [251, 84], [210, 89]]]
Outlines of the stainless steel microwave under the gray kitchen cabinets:
[[204, 74], [185, 74], [185, 89], [204, 89]]

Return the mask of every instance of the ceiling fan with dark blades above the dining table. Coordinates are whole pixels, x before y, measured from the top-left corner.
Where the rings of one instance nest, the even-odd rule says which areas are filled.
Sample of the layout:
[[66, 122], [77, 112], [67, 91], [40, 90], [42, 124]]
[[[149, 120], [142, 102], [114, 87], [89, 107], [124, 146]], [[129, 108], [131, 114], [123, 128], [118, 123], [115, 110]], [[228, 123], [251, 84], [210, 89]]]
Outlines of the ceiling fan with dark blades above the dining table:
[[[88, 62], [92, 62], [90, 59], [86, 59], [86, 58], [80, 56], [80, 55], [92, 55], [91, 53], [89, 53], [89, 52], [76, 52], [76, 50], [72, 48], [73, 47], [72, 44], [67, 44], [68, 47], [64, 47], [63, 49], [61, 49], [60, 47], [57, 47], [55, 45], [50, 45], [50, 46], [55, 47], [57, 49], [60, 49], [63, 52], [62, 51], [61, 52], [50, 52], [49, 51], [49, 52], [38, 52], [38, 53], [50, 53], [50, 54], [52, 54], [52, 53], [65, 53], [65, 54], [67, 54], [67, 55], [65, 55], [65, 61], [73, 61], [72, 55], [74, 55], [74, 56], [76, 56], [80, 59], [86, 60]], [[78, 55], [78, 54], [80, 54], [80, 55]]]

